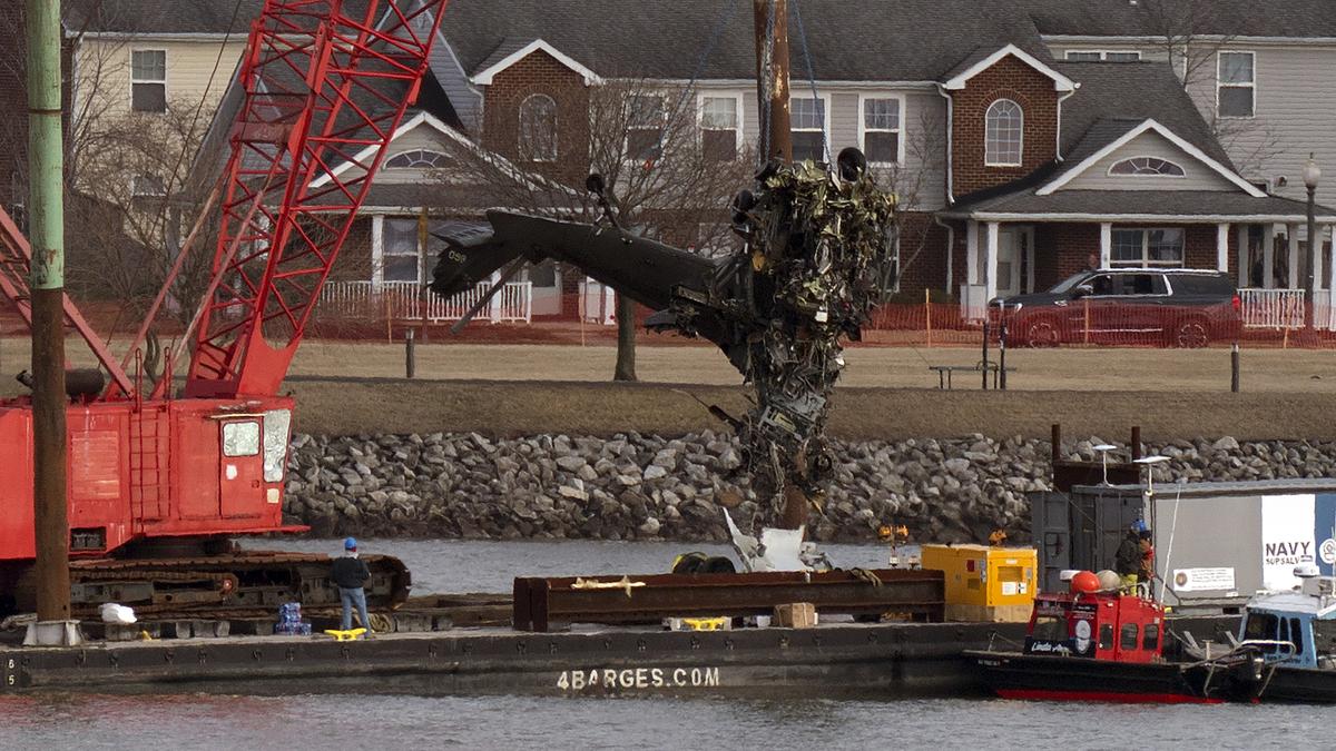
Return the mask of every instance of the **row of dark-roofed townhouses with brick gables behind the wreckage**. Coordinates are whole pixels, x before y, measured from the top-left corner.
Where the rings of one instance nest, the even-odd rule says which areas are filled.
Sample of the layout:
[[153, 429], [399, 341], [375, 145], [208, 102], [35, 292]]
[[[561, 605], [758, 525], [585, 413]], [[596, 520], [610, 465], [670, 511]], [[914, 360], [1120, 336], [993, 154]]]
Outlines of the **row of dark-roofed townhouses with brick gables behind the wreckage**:
[[[1308, 152], [1336, 164], [1336, 135], [1309, 126], [1308, 103], [1336, 104], [1336, 80], [1277, 73], [1336, 65], [1336, 19], [1323, 0], [1267, 13], [1220, 0], [1180, 55], [1152, 12], [1176, 3], [791, 5], [806, 16], [790, 19], [795, 158], [863, 148], [902, 199], [902, 290], [939, 290], [969, 313], [1092, 263], [1220, 269], [1259, 294], [1292, 291], [1308, 242], [1299, 167]], [[672, 106], [693, 110], [701, 148], [754, 143], [748, 11], [713, 0], [452, 1], [430, 72], [438, 96], [420, 107], [432, 119], [397, 138], [363, 211], [365, 245], [345, 253], [365, 261], [365, 281], [385, 283], [410, 274], [415, 251], [424, 281], [430, 249], [407, 227], [426, 200], [405, 204], [405, 188], [390, 186], [411, 176], [395, 174], [415, 168], [405, 159], [436, 162], [429, 152], [464, 142], [578, 184], [591, 92], [619, 80], [689, 86]], [[1295, 96], [1297, 82], [1307, 96]], [[1279, 134], [1276, 148], [1259, 147], [1261, 131]], [[1319, 202], [1336, 196], [1333, 182]], [[445, 203], [433, 212], [449, 212]], [[1317, 222], [1320, 286], [1333, 289], [1336, 211], [1319, 206]], [[530, 281], [560, 294], [576, 278], [552, 269]]]

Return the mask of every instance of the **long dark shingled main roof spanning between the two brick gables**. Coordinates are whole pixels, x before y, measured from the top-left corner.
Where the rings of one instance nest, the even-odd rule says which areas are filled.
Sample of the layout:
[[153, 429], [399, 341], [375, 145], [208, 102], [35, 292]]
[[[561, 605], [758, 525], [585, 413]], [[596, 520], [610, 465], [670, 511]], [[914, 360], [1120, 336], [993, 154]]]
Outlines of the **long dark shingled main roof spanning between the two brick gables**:
[[[807, 57], [818, 82], [938, 82], [965, 51], [1006, 44], [1049, 60], [1014, 0], [982, 4], [995, 8], [981, 11], [979, 0], [790, 3], [795, 87]], [[506, 40], [536, 39], [603, 78], [756, 76], [751, 4], [741, 0], [452, 0], [441, 28], [470, 76], [493, 64]]]

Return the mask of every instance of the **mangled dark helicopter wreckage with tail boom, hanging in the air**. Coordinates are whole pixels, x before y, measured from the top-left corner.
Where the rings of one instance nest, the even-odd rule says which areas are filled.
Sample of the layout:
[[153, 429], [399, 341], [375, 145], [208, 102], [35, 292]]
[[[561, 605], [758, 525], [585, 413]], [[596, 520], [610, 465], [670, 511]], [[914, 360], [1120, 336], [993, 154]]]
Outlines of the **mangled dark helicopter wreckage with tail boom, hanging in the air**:
[[866, 164], [856, 148], [842, 151], [834, 171], [812, 162], [766, 164], [755, 190], [733, 199], [732, 230], [744, 243], [723, 258], [621, 227], [608, 187], [591, 175], [603, 220], [490, 210], [486, 226], [440, 235], [446, 249], [432, 290], [453, 295], [508, 263], [502, 282], [525, 262], [554, 259], [655, 310], [651, 330], [713, 342], [754, 398], [743, 416], [708, 409], [737, 433], [754, 486], [774, 508], [766, 521], [798, 529], [808, 506], [822, 508], [832, 470], [826, 424], [843, 342], [860, 339], [898, 275], [895, 196]]

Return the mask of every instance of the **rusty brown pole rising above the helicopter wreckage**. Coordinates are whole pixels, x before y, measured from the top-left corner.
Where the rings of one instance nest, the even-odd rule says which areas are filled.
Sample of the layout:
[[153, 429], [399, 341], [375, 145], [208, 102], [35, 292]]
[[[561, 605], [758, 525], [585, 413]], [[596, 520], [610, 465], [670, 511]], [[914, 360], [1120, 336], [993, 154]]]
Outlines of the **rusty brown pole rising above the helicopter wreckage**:
[[794, 160], [788, 132], [788, 1], [754, 0], [756, 98], [760, 112], [760, 163]]

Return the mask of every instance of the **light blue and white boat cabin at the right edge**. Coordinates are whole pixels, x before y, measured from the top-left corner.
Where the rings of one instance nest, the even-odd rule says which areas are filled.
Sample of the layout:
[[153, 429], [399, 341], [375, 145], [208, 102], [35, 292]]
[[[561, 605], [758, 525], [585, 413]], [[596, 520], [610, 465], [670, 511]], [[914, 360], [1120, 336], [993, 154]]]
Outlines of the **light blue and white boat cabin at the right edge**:
[[1295, 591], [1248, 601], [1238, 640], [1257, 648], [1267, 663], [1336, 668], [1336, 577], [1295, 573], [1301, 581]]

